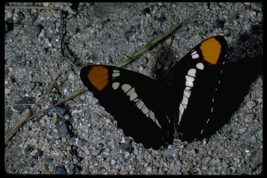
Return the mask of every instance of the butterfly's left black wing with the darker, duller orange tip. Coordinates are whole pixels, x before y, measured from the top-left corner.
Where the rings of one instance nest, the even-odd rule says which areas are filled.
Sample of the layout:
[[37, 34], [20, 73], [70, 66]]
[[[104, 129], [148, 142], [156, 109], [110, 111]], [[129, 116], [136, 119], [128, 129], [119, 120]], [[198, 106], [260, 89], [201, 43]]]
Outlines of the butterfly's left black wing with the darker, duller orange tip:
[[107, 65], [86, 66], [80, 77], [126, 136], [145, 148], [172, 143], [173, 124], [165, 116], [164, 96], [154, 80]]

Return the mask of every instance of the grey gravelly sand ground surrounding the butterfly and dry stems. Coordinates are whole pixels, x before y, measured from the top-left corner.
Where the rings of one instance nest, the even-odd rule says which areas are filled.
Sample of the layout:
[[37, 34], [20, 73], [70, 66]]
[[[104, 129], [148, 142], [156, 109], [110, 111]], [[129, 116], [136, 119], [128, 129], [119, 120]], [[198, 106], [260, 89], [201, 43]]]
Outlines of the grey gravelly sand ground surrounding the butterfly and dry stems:
[[[168, 147], [145, 149], [124, 136], [92, 93], [85, 92], [18, 129], [5, 146], [8, 174], [261, 174], [262, 3], [79, 3], [78, 8], [77, 4], [50, 2], [7, 5], [62, 9], [65, 39], [80, 68], [116, 65], [123, 53], [131, 54], [179, 20], [182, 26], [173, 34], [169, 54], [173, 63], [214, 35], [223, 35], [229, 46], [220, 109], [221, 116], [228, 117], [207, 139], [192, 143], [174, 139]], [[37, 102], [58, 74], [55, 87], [36, 112], [84, 87], [60, 55], [59, 26], [58, 10], [5, 8], [5, 106]], [[158, 67], [170, 43], [167, 38], [138, 61]], [[139, 64], [126, 68], [153, 77], [151, 70]], [[29, 108], [5, 108], [5, 131]]]

